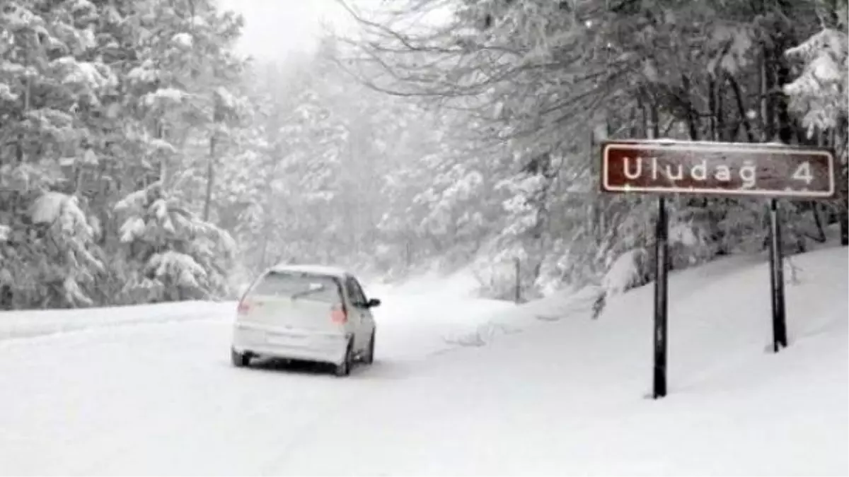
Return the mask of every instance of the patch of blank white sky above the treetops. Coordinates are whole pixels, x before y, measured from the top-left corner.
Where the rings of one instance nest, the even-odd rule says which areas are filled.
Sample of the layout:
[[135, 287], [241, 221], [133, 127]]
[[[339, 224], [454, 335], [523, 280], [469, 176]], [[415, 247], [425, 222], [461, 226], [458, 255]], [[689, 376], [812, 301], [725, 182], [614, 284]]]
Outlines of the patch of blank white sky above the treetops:
[[256, 59], [284, 59], [315, 46], [322, 22], [350, 22], [335, 0], [218, 0], [245, 17], [239, 50]]

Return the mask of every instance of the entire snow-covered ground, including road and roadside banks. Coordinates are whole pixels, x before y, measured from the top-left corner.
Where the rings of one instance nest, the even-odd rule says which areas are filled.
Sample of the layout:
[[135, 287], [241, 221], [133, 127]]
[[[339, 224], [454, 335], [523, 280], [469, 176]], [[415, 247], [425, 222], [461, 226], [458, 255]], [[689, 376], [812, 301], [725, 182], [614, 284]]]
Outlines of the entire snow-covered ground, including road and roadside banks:
[[0, 338], [0, 474], [843, 476], [849, 250], [794, 262], [778, 355], [766, 264], [672, 274], [661, 401], [644, 398], [650, 286], [598, 320], [587, 297], [516, 307], [462, 280], [375, 286], [378, 362], [350, 379], [231, 368], [232, 304], [116, 309], [132, 326], [89, 317], [84, 333], [56, 324], [79, 312], [48, 313], [53, 334]]

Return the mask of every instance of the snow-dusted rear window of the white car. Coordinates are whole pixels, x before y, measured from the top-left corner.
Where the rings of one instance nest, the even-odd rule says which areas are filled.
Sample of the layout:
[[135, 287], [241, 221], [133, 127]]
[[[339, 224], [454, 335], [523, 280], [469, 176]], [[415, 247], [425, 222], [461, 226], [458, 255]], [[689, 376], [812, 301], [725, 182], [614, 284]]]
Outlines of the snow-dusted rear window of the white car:
[[269, 272], [260, 283], [256, 283], [250, 295], [339, 303], [339, 290], [339, 282], [333, 277], [309, 273]]

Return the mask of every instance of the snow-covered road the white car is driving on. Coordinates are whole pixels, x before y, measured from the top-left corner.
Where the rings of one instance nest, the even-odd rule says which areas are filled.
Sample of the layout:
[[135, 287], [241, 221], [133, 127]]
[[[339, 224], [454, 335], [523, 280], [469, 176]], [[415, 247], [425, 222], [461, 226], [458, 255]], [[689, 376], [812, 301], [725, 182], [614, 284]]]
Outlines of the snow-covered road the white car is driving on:
[[380, 298], [378, 361], [348, 379], [303, 367], [232, 368], [234, 304], [207, 306], [207, 319], [0, 342], [0, 474], [338, 476], [346, 443], [368, 431], [358, 427], [368, 420], [351, 414], [374, 411], [446, 349], [443, 332], [457, 323], [449, 320], [473, 326], [510, 306], [432, 293]]

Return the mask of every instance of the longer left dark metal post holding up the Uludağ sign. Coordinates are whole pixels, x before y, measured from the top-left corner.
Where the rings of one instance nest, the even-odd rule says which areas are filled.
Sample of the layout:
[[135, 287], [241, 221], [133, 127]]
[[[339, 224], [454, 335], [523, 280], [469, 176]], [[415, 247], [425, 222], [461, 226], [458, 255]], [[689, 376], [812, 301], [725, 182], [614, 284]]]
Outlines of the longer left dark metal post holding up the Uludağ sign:
[[666, 351], [668, 336], [668, 218], [666, 198], [657, 199], [657, 224], [655, 229], [655, 373], [653, 391], [655, 399], [666, 396]]

